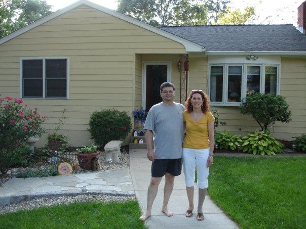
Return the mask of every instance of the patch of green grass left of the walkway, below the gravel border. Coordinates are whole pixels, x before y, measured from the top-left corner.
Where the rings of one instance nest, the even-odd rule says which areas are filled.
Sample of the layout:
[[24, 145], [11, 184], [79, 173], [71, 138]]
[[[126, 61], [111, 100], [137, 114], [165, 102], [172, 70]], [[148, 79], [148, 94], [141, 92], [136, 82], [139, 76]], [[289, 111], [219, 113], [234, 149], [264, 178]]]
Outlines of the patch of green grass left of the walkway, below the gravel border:
[[136, 201], [72, 203], [0, 216], [0, 228], [145, 228]]

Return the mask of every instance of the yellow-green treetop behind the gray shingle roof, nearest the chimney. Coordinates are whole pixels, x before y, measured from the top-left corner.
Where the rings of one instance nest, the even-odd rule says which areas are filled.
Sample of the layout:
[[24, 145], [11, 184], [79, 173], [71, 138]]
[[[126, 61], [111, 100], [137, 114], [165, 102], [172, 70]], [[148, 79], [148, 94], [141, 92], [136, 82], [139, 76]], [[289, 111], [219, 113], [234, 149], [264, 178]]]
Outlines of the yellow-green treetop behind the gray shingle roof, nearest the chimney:
[[255, 7], [246, 7], [244, 12], [239, 9], [231, 10], [226, 8], [224, 13], [219, 15], [217, 24], [220, 25], [241, 25], [251, 24], [258, 17], [255, 16]]

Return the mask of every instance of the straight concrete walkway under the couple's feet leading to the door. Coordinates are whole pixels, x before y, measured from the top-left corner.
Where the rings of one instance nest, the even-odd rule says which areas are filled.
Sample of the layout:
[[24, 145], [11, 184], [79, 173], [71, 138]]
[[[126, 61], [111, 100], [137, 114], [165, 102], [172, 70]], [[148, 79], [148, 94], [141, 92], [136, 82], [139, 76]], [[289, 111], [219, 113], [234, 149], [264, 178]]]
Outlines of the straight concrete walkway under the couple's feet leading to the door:
[[[130, 149], [130, 173], [134, 185], [136, 198], [142, 208], [146, 209], [147, 188], [151, 177], [151, 162], [146, 157], [146, 150]], [[152, 216], [146, 221], [149, 228], [239, 228], [223, 211], [210, 199], [205, 198], [203, 211], [205, 219], [197, 221], [196, 215], [187, 218], [184, 216], [188, 207], [185, 190], [184, 175], [175, 178], [174, 189], [169, 201], [168, 208], [174, 212], [174, 216], [167, 217], [162, 211], [163, 188], [165, 179], [159, 186], [159, 191], [152, 207]], [[197, 209], [198, 188], [195, 186], [195, 209]], [[197, 210], [194, 210], [197, 213]]]

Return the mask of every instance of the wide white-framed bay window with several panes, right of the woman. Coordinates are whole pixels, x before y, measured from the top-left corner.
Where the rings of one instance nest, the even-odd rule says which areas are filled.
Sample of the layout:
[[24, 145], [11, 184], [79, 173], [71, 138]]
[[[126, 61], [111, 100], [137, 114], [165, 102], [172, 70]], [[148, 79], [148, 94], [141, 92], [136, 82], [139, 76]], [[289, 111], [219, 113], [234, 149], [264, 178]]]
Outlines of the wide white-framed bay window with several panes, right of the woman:
[[240, 106], [252, 93], [279, 95], [279, 65], [209, 64], [208, 68], [211, 105]]

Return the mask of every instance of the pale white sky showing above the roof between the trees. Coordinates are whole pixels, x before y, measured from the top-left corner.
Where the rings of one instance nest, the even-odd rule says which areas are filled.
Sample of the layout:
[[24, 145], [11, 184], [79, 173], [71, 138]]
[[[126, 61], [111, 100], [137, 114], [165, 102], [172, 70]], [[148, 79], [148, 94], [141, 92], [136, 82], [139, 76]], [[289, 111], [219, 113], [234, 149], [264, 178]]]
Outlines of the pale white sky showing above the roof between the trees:
[[[117, 9], [117, 0], [90, 0], [112, 10]], [[293, 24], [297, 23], [297, 7], [304, 0], [232, 0], [228, 6], [243, 10], [255, 6], [258, 19], [253, 24]], [[77, 0], [47, 0], [53, 5], [52, 11], [62, 9]], [[268, 18], [267, 18], [268, 17]]]

